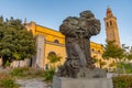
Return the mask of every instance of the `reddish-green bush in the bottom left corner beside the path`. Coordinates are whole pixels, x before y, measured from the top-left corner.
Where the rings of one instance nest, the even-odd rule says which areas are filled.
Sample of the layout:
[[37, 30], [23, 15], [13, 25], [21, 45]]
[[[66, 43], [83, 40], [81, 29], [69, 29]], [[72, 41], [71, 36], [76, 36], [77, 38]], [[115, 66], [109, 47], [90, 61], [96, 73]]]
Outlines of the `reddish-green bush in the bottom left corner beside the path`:
[[0, 73], [0, 88], [19, 88], [19, 86], [10, 75]]

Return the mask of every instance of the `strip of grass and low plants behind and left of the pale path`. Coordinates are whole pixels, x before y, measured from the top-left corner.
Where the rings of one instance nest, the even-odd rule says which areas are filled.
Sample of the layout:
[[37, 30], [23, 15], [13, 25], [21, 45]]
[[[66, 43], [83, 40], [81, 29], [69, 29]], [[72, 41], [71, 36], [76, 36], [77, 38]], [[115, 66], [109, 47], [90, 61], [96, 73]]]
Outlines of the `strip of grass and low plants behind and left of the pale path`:
[[18, 67], [8, 70], [8, 73], [0, 73], [0, 88], [19, 88], [15, 84], [16, 79], [43, 78], [46, 82], [52, 82], [55, 69], [37, 69], [31, 67]]

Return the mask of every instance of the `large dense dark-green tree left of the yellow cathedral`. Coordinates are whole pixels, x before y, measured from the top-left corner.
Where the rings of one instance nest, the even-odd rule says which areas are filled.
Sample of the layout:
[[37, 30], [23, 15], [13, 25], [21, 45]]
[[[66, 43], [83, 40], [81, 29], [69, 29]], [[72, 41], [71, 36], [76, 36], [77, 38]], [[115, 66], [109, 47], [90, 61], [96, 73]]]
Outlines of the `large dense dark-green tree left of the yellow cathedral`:
[[22, 21], [0, 18], [0, 56], [3, 64], [13, 59], [32, 58], [35, 55], [35, 38], [28, 32]]

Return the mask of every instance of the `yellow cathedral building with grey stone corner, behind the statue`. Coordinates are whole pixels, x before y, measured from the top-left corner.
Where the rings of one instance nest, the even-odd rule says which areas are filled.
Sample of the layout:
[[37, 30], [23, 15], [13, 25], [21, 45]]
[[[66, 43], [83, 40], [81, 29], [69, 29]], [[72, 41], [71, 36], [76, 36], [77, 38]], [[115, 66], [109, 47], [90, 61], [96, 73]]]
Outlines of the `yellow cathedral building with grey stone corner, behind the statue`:
[[[36, 56], [34, 57], [33, 65], [40, 68], [48, 68], [50, 61], [47, 56], [50, 54], [56, 54], [62, 56], [61, 63], [63, 64], [66, 58], [65, 50], [65, 36], [61, 32], [42, 26], [35, 22], [30, 22], [25, 24], [29, 31], [32, 31], [33, 35], [36, 37]], [[91, 42], [91, 55], [101, 59], [103, 53], [103, 46], [101, 44]]]

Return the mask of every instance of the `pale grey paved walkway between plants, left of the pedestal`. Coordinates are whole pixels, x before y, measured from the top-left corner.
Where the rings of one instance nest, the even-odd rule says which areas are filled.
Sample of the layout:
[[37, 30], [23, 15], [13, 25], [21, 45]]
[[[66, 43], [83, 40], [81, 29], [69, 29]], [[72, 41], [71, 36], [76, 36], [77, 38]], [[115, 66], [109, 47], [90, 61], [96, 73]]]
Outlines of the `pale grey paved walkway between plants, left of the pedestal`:
[[20, 88], [51, 88], [41, 78], [19, 79], [16, 84], [21, 85]]

